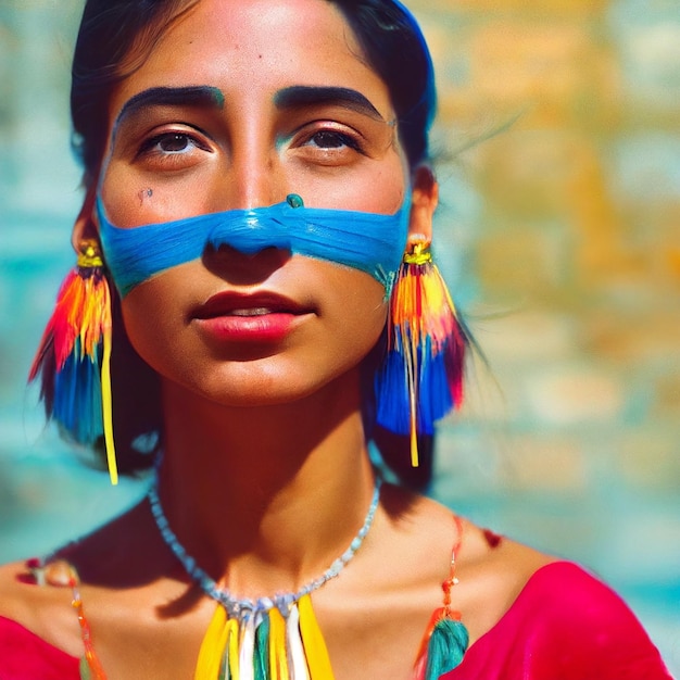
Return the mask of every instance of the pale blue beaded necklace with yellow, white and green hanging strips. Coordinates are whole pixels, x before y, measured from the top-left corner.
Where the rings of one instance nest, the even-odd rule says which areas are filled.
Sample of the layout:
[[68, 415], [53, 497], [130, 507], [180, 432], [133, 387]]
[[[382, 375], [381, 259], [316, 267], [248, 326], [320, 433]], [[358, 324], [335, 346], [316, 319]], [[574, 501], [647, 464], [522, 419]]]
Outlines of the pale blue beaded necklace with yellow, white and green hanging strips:
[[311, 593], [336, 578], [362, 545], [375, 518], [380, 486], [381, 480], [377, 478], [362, 528], [324, 574], [294, 593], [277, 593], [257, 600], [235, 596], [217, 585], [197, 564], [169, 527], [159, 498], [158, 481], [151, 486], [148, 498], [161, 537], [189, 578], [218, 603], [201, 644], [196, 680], [332, 680]]

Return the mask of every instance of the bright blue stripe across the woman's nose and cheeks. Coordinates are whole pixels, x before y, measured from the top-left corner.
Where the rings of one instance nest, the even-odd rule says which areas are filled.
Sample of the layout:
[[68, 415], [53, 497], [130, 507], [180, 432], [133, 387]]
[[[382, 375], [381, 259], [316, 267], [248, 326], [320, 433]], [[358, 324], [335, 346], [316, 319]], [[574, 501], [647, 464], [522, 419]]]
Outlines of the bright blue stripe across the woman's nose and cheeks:
[[389, 292], [404, 253], [411, 202], [393, 215], [319, 207], [267, 207], [197, 215], [128, 229], [97, 214], [106, 264], [122, 297], [171, 267], [201, 257], [207, 247], [254, 254], [265, 248], [366, 272]]

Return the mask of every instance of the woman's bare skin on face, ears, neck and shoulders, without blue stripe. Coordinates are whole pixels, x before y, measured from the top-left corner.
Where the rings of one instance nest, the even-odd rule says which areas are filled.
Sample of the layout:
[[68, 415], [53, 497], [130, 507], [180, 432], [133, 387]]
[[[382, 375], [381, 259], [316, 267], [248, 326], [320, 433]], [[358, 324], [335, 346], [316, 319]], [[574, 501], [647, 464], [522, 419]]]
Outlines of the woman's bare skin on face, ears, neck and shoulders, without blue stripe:
[[[209, 105], [138, 108], [119, 118], [149, 88], [189, 86], [221, 97]], [[293, 86], [352, 89], [377, 114], [337, 102], [282, 106]], [[135, 228], [269, 205], [291, 192], [310, 206], [393, 213], [411, 181], [410, 230], [427, 235], [437, 185], [427, 168], [407, 168], [393, 117], [385, 84], [330, 3], [202, 0], [114, 92], [101, 197], [114, 224]], [[356, 137], [348, 141], [353, 135], [362, 151], [352, 146]], [[91, 207], [92, 196], [76, 241], [93, 229]], [[225, 340], [197, 313], [225, 293], [240, 295], [240, 307], [262, 306], [260, 294], [284, 295], [303, 312], [276, 341], [249, 340], [247, 332]], [[188, 552], [232, 592], [295, 590], [361, 527], [373, 473], [358, 365], [385, 324], [383, 293], [369, 275], [329, 262], [225, 248], [124, 300], [128, 336], [162, 378], [166, 515]], [[492, 547], [479, 529], [463, 526], [453, 606], [475, 640], [550, 558], [511, 541]], [[314, 595], [338, 680], [410, 677], [458, 539], [449, 511], [385, 489], [362, 549]], [[81, 576], [110, 678], [191, 677], [214, 605], [188, 582], [146, 504], [63, 556]], [[79, 655], [70, 593], [22, 583], [22, 571], [0, 570], [0, 614]]]

